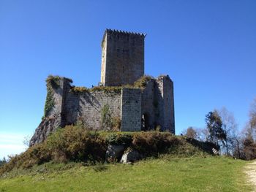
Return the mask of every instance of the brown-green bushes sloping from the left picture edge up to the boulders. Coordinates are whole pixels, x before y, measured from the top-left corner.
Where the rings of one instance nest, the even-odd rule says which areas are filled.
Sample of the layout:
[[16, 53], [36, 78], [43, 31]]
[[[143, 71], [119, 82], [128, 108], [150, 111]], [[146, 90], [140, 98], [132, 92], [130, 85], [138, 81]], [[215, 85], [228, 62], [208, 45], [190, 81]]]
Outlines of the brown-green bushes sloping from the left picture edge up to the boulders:
[[0, 168], [0, 175], [14, 168], [31, 168], [49, 161], [104, 161], [107, 150], [105, 139], [93, 131], [76, 126], [60, 128], [45, 142], [29, 147], [26, 152], [10, 157], [10, 161]]

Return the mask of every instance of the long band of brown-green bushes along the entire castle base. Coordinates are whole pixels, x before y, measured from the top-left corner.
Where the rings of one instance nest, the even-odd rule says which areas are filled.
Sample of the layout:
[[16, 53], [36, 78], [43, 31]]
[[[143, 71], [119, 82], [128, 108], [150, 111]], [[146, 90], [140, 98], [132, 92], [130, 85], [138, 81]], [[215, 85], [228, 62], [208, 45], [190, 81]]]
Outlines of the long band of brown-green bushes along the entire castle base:
[[[10, 157], [0, 166], [0, 176], [12, 169], [28, 169], [47, 162], [81, 162], [84, 165], [96, 165], [95, 171], [105, 170], [102, 163], [108, 145], [124, 145], [125, 148], [138, 150], [144, 157], [170, 153], [178, 156], [191, 156], [202, 151], [210, 152], [211, 143], [198, 142], [195, 139], [176, 137], [169, 132], [104, 132], [89, 131], [84, 126], [66, 126], [50, 134], [45, 142], [29, 147], [24, 153]], [[2, 162], [2, 161], [0, 161]]]

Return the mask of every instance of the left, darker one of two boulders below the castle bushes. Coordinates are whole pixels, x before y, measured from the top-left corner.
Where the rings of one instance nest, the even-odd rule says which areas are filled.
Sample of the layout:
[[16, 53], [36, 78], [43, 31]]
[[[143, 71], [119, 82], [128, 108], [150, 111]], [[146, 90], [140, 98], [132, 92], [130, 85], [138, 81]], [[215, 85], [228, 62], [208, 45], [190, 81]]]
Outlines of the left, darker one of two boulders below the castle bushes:
[[108, 145], [105, 159], [107, 162], [117, 161], [124, 153], [124, 145]]

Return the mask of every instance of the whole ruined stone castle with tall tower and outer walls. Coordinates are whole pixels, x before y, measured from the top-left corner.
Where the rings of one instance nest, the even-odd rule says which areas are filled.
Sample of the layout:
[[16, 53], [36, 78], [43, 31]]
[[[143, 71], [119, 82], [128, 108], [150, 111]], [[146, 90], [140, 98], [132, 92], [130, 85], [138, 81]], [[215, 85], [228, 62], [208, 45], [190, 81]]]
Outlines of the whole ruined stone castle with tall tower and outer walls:
[[45, 115], [30, 146], [59, 127], [82, 123], [92, 130], [175, 134], [173, 81], [144, 76], [146, 34], [106, 29], [102, 39], [101, 82], [75, 87], [66, 77], [49, 76]]

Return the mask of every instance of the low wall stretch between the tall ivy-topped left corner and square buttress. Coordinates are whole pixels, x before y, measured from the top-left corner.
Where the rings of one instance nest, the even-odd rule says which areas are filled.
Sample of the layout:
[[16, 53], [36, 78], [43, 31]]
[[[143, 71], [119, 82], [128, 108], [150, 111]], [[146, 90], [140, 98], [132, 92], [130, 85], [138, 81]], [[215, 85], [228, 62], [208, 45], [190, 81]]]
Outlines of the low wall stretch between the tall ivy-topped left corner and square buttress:
[[[109, 125], [102, 125], [102, 109], [108, 118], [120, 118], [121, 93], [114, 91], [93, 91], [67, 94], [64, 118], [67, 125], [83, 122], [93, 130], [110, 129]], [[104, 126], [104, 127], [103, 127]]]

